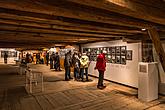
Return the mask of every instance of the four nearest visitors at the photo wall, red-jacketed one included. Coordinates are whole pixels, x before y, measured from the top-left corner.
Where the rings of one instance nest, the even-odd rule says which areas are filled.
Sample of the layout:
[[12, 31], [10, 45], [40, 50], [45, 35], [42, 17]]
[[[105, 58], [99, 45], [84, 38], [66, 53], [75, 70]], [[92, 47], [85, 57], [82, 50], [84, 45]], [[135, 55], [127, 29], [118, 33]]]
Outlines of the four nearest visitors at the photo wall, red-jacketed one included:
[[[70, 69], [74, 67], [74, 79], [77, 81], [84, 81], [84, 75], [86, 76], [86, 81], [88, 79], [88, 67], [89, 67], [89, 58], [86, 53], [82, 55], [80, 53], [75, 52], [73, 56], [71, 56], [71, 51], [65, 54], [64, 67], [65, 67], [65, 80], [68, 81], [73, 79], [70, 75]], [[104, 89], [103, 85], [104, 72], [106, 68], [106, 60], [103, 51], [98, 55], [96, 66], [94, 69], [97, 69], [99, 72], [99, 80], [97, 84], [97, 88]]]

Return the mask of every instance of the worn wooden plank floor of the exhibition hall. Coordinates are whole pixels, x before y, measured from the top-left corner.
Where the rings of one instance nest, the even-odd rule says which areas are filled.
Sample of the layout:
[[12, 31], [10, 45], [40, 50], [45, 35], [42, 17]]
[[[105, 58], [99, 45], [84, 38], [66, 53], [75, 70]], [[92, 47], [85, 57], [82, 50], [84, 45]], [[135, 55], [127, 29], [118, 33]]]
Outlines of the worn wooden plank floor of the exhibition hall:
[[34, 85], [32, 94], [25, 90], [25, 75], [15, 65], [0, 65], [0, 110], [165, 110], [165, 96], [152, 102], [137, 99], [137, 89], [104, 81], [104, 90], [90, 82], [64, 81], [64, 71], [46, 65], [31, 65], [43, 72], [44, 91]]

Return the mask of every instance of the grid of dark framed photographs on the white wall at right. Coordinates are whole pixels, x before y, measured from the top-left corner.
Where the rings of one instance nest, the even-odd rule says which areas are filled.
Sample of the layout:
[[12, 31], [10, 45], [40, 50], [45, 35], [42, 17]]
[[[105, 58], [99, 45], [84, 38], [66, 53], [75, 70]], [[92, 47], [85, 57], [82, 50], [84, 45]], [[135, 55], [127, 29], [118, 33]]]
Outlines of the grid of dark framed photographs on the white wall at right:
[[132, 60], [132, 50], [126, 50], [126, 46], [83, 48], [90, 61], [96, 61], [101, 50], [105, 53], [107, 63], [126, 64], [126, 60]]

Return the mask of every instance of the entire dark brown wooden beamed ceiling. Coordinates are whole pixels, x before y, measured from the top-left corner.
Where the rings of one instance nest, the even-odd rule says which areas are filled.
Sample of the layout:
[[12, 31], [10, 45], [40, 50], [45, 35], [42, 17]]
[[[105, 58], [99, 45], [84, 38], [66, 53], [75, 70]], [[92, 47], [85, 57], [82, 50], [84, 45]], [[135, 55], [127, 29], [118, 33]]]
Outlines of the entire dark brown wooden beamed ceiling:
[[0, 0], [0, 47], [165, 39], [163, 0]]

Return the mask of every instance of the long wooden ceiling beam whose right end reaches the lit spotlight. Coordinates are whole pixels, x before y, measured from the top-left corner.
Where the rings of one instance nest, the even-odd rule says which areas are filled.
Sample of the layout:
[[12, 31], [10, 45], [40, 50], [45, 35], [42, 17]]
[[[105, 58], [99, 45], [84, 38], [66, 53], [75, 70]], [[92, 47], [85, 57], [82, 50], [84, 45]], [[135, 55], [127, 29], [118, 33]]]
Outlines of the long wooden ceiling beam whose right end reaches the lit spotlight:
[[143, 33], [141, 29], [138, 28], [130, 28], [126, 26], [116, 26], [116, 25], [107, 25], [102, 23], [81, 23], [81, 22], [63, 22], [57, 20], [36, 20], [36, 18], [27, 19], [18, 15], [11, 14], [2, 14], [0, 13], [0, 22], [8, 23], [8, 24], [18, 24], [18, 25], [27, 25], [27, 26], [36, 26], [36, 27], [44, 27], [44, 28], [58, 28], [58, 29], [69, 29], [69, 30], [83, 30], [83, 31], [91, 31], [91, 32], [123, 32], [123, 33]]

